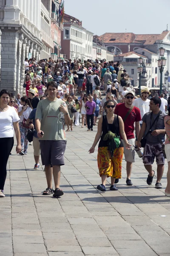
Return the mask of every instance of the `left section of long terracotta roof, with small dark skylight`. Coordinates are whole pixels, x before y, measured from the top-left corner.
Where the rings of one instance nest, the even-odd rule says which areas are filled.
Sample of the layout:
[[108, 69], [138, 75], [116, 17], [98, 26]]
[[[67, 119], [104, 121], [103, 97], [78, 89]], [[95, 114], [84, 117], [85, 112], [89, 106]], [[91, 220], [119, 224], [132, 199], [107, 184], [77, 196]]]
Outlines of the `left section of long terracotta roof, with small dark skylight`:
[[104, 43], [132, 43], [136, 35], [133, 33], [105, 33], [99, 36], [99, 40]]

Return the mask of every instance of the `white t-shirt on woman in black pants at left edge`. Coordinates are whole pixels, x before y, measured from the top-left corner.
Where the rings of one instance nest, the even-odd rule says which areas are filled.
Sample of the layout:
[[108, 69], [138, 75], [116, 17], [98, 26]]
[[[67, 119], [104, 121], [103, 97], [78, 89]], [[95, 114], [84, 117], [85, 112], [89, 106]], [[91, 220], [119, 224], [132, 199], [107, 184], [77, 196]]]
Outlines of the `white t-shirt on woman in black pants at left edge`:
[[7, 111], [0, 112], [0, 138], [14, 137], [13, 122], [19, 120], [17, 112], [10, 106]]

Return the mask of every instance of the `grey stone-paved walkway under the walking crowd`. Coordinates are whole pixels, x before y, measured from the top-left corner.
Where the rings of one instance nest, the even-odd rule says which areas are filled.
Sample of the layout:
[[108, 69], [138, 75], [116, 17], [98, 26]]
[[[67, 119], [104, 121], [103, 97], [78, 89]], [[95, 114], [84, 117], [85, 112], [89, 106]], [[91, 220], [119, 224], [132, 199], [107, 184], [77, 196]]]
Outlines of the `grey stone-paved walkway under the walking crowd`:
[[[100, 193], [96, 135], [86, 128], [67, 132], [65, 166], [57, 199], [42, 196], [45, 173], [33, 170], [27, 156], [9, 157], [5, 198], [0, 198], [0, 256], [170, 256], [170, 198], [164, 189], [147, 186], [147, 172], [136, 155], [133, 186], [125, 185], [123, 160], [119, 191]], [[16, 145], [16, 144], [15, 144]], [[156, 164], [154, 164], [156, 167]], [[156, 168], [155, 168], [156, 170]], [[162, 184], [166, 186], [167, 164]]]

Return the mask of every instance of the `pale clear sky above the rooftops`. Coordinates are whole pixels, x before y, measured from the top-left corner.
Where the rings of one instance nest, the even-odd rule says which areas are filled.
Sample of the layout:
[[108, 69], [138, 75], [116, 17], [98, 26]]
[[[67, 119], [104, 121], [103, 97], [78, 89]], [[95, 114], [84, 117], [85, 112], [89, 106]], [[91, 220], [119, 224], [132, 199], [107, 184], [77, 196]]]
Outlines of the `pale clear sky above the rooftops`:
[[65, 0], [65, 13], [95, 35], [161, 34], [170, 30], [170, 0]]

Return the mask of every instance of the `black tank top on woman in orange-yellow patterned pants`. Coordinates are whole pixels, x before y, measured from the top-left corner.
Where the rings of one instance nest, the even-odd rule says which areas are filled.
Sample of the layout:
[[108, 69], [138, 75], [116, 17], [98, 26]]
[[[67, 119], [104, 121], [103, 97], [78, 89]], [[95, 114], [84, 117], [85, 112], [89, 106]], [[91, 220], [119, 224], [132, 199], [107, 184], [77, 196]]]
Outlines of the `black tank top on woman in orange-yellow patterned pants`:
[[[108, 141], [107, 140], [103, 140], [103, 137], [105, 136], [105, 134], [108, 133], [108, 128], [109, 131], [115, 133], [117, 136], [119, 136], [119, 118], [118, 115], [114, 115], [114, 120], [112, 124], [108, 124], [108, 120], [107, 120], [107, 116], [103, 116], [103, 121], [102, 121], [102, 136], [100, 138], [100, 142], [99, 142], [99, 148], [101, 147], [108, 147]], [[123, 147], [123, 143], [121, 141], [119, 148]]]

